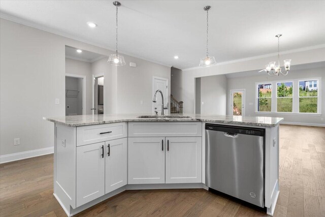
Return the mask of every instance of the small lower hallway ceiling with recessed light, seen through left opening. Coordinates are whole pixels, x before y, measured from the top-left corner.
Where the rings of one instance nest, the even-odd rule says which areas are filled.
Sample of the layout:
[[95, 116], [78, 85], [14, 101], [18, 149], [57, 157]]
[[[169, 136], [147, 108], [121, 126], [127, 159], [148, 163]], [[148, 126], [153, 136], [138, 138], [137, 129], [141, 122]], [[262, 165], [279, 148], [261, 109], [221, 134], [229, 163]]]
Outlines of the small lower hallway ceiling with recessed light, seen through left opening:
[[87, 50], [82, 50], [81, 53], [77, 52], [78, 48], [66, 46], [66, 57], [71, 59], [77, 59], [92, 63], [93, 61], [99, 60], [104, 56], [98, 53], [93, 53]]

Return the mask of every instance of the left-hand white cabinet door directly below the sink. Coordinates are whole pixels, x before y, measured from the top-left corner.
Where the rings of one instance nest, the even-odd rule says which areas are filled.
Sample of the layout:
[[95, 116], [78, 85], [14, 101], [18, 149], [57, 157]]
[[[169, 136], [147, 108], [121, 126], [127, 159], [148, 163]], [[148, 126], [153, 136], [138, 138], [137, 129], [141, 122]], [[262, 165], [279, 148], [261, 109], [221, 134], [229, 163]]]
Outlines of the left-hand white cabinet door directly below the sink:
[[128, 138], [128, 184], [165, 183], [165, 137]]

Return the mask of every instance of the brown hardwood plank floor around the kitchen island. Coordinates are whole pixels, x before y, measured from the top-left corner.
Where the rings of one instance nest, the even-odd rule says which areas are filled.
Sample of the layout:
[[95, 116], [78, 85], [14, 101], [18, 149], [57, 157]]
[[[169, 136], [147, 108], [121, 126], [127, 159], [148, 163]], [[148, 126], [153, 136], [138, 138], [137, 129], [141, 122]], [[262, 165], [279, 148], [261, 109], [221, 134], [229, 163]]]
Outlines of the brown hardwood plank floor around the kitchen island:
[[[275, 216], [325, 216], [325, 128], [281, 125]], [[53, 155], [0, 165], [0, 216], [66, 216]], [[206, 190], [126, 191], [77, 216], [268, 216]]]

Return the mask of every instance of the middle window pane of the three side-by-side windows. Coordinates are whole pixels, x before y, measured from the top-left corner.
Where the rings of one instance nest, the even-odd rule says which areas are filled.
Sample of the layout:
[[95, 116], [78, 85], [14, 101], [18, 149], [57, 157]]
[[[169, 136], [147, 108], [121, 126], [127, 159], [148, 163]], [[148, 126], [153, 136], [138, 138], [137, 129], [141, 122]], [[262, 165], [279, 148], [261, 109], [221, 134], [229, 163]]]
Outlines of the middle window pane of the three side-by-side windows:
[[277, 83], [277, 112], [293, 111], [293, 82]]

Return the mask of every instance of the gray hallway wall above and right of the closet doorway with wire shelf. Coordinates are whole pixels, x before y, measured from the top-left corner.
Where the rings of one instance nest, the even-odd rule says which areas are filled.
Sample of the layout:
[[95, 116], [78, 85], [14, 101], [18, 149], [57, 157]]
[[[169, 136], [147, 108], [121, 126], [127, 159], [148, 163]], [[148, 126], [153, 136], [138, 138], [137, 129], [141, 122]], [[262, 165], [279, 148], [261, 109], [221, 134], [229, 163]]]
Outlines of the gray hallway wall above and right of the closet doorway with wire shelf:
[[66, 73], [86, 76], [86, 114], [92, 114], [92, 75], [91, 64], [85, 61], [66, 58]]

